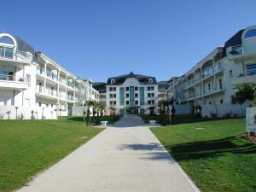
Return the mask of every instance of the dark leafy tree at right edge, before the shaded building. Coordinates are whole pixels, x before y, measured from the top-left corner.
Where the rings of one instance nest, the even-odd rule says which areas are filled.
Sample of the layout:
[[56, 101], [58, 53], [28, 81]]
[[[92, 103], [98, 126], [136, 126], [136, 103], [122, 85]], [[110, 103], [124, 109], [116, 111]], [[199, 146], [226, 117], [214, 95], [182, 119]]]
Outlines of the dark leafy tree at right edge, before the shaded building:
[[255, 83], [244, 83], [237, 84], [235, 88], [236, 94], [234, 96], [233, 102], [244, 103], [250, 102], [251, 106], [256, 103], [256, 84]]

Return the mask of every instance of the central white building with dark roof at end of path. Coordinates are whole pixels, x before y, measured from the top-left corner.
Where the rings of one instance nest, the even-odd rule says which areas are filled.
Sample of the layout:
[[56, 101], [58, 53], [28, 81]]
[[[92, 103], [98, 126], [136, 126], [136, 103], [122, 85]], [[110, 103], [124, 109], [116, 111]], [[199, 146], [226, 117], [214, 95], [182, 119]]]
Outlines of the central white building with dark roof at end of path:
[[129, 73], [108, 78], [106, 84], [96, 84], [100, 90], [100, 102], [105, 102], [107, 114], [115, 108], [117, 114], [149, 113], [149, 107], [156, 112], [158, 84], [154, 77]]

